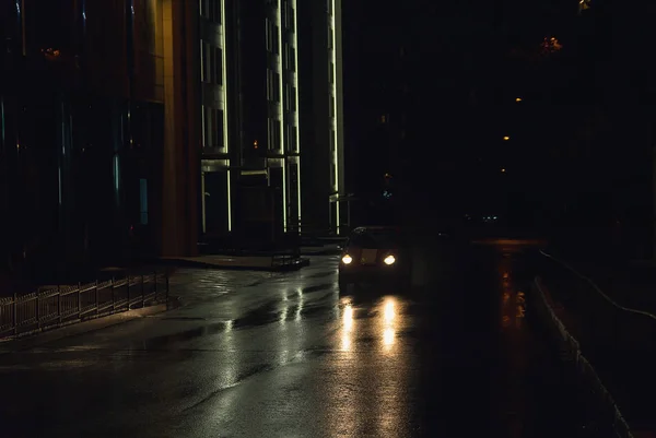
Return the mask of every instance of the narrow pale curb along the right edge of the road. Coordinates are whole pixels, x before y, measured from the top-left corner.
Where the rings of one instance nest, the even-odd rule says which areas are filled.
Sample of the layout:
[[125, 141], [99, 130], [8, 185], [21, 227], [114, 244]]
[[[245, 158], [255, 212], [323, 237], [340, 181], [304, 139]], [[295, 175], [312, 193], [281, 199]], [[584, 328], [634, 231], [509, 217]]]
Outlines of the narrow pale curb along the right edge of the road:
[[620, 412], [616, 401], [599, 379], [597, 371], [582, 354], [578, 341], [567, 331], [565, 324], [557, 316], [552, 305], [547, 299], [540, 277], [536, 277], [530, 294], [529, 305], [539, 320], [547, 325], [550, 334], [558, 343], [561, 353], [575, 366], [578, 376], [591, 389], [599, 401], [600, 410], [606, 418], [611, 418], [611, 427], [618, 438], [634, 438], [629, 424]]

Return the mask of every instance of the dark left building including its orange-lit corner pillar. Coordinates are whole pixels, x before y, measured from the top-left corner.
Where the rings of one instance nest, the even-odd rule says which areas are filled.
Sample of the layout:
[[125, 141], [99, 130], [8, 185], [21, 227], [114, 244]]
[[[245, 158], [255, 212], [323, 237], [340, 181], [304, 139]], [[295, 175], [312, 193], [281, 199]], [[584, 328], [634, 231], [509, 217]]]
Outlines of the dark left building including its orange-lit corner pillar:
[[3, 265], [196, 251], [197, 9], [3, 5]]

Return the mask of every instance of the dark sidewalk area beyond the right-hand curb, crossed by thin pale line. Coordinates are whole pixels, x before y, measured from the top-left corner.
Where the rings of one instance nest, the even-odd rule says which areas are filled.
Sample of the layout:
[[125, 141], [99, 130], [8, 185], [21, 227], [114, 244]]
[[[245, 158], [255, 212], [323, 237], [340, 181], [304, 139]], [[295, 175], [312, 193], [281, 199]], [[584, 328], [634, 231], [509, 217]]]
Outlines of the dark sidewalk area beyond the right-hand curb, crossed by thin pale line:
[[656, 265], [559, 257], [596, 288], [557, 261], [541, 259], [538, 272], [559, 318], [579, 342], [626, 421], [641, 433], [656, 433], [656, 319], [622, 309], [656, 311]]

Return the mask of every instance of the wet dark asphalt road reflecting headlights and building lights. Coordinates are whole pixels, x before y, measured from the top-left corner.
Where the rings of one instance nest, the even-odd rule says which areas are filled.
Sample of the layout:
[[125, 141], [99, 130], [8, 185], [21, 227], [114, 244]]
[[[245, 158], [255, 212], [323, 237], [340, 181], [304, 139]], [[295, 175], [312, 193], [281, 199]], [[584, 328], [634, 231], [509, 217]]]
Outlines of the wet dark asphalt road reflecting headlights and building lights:
[[422, 260], [413, 294], [340, 294], [337, 257], [178, 271], [178, 309], [0, 356], [0, 436], [584, 436], [527, 324], [522, 256]]

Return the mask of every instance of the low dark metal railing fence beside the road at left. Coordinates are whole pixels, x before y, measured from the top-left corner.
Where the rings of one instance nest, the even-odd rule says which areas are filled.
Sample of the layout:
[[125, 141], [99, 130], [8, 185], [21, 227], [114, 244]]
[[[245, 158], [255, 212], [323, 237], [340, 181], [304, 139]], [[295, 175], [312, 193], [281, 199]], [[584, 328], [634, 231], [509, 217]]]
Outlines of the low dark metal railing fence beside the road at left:
[[19, 338], [168, 301], [168, 275], [130, 275], [0, 298], [0, 338]]

